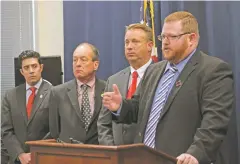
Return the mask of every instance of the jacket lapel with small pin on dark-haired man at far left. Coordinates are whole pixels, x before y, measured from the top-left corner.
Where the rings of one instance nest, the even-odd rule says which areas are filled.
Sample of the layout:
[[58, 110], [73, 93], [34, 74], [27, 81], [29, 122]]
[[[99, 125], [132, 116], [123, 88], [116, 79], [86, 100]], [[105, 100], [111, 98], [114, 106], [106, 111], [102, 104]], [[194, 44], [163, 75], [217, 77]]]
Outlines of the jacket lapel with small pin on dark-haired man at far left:
[[28, 125], [32, 121], [36, 112], [38, 111], [39, 106], [42, 104], [42, 102], [43, 102], [43, 100], [44, 100], [44, 98], [47, 94], [48, 89], [49, 89], [49, 85], [46, 84], [46, 82], [43, 80], [41, 86], [39, 87], [38, 93], [35, 97], [33, 107], [32, 107], [32, 112], [31, 112], [31, 115], [30, 115], [30, 119], [28, 120]]

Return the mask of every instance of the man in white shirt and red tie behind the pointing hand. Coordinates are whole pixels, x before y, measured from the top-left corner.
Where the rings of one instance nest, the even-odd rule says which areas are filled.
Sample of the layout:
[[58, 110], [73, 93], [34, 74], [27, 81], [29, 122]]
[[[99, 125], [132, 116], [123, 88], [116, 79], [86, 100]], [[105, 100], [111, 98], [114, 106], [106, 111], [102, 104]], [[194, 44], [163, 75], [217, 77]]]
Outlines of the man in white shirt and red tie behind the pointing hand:
[[[125, 33], [125, 56], [130, 66], [112, 75], [107, 80], [105, 92], [112, 91], [117, 84], [121, 95], [130, 99], [152, 63], [152, 29], [144, 24], [131, 24]], [[103, 145], [132, 144], [136, 124], [121, 124], [112, 121], [111, 112], [102, 107], [98, 119], [98, 140]]]

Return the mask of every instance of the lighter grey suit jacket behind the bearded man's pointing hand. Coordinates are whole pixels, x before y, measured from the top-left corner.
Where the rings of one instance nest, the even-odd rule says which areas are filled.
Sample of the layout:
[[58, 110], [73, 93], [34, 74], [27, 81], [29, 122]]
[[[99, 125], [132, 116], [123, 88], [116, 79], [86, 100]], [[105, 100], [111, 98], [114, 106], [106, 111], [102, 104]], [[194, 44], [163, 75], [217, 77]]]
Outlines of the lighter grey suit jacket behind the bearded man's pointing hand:
[[[112, 75], [108, 78], [105, 92], [112, 91], [112, 85], [117, 84], [121, 95], [125, 98], [128, 90], [130, 67]], [[112, 121], [111, 112], [101, 109], [98, 119], [98, 140], [102, 145], [123, 145], [134, 142], [136, 124], [121, 124]]]

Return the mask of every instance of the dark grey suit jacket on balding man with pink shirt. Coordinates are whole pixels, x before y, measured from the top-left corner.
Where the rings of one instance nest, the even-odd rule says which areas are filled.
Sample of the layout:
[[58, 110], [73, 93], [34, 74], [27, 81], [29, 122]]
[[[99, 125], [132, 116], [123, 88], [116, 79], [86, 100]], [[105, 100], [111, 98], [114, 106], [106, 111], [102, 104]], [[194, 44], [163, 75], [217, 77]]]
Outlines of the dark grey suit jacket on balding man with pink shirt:
[[78, 103], [76, 79], [53, 87], [49, 113], [50, 132], [53, 138], [59, 138], [64, 142], [70, 142], [70, 138], [73, 138], [85, 144], [98, 144], [97, 119], [104, 89], [105, 82], [96, 78], [94, 113], [86, 132]]

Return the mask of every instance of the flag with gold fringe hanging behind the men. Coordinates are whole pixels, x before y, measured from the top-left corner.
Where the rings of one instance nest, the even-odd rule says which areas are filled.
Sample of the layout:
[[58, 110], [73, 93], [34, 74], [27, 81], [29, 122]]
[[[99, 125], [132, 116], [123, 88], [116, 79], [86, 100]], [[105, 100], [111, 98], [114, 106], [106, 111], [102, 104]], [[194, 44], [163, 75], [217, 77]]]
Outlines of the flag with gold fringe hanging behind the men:
[[156, 46], [156, 36], [155, 36], [155, 21], [154, 21], [154, 4], [153, 0], [142, 0], [140, 7], [140, 23], [146, 24], [152, 28], [153, 31], [153, 48], [152, 48], [152, 60], [158, 62], [158, 52]]

